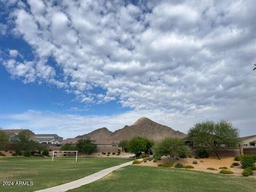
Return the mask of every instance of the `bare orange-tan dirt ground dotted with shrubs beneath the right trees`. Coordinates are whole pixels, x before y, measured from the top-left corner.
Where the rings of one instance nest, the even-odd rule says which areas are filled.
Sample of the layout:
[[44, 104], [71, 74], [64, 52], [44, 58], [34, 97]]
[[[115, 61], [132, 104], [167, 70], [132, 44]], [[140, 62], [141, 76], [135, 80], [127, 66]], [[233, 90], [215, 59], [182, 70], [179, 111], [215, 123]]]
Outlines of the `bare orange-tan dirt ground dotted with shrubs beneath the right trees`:
[[[142, 162], [141, 164], [138, 164], [139, 166], [157, 166], [159, 163], [167, 162], [169, 159], [167, 157], [163, 157], [160, 161], [157, 161], [157, 163], [154, 163], [153, 161], [147, 161], [146, 163]], [[197, 161], [197, 164], [193, 164], [193, 161]], [[219, 173], [219, 167], [226, 166], [229, 170], [233, 171], [236, 176], [242, 176], [243, 169], [241, 165], [234, 166], [233, 168], [230, 167], [230, 165], [235, 162], [234, 157], [222, 157], [220, 160], [218, 158], [204, 158], [204, 159], [196, 159], [196, 158], [179, 158], [179, 160], [175, 161], [176, 163], [182, 163], [183, 165], [192, 165], [195, 167], [196, 171], [204, 171], [204, 172], [210, 172], [210, 173]], [[208, 170], [208, 167], [213, 167], [217, 170]], [[251, 178], [256, 179], [256, 173], [254, 173]]]

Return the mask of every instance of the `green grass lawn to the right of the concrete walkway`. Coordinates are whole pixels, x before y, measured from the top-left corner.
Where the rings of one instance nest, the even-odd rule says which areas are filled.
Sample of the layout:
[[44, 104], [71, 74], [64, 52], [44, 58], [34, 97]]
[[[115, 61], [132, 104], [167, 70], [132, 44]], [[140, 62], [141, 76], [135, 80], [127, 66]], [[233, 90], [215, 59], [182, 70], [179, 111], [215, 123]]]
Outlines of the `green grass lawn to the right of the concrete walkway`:
[[256, 191], [256, 179], [192, 170], [130, 165], [98, 181], [70, 192], [81, 191]]

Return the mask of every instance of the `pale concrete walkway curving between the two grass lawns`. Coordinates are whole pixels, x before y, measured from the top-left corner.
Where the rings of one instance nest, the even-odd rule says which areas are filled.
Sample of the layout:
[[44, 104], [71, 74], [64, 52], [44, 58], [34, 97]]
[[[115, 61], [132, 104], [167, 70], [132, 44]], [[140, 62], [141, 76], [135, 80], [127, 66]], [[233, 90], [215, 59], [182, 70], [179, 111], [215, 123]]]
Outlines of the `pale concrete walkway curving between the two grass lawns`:
[[107, 169], [104, 169], [104, 170], [101, 170], [99, 172], [88, 175], [88, 176], [86, 176], [82, 179], [71, 181], [71, 182], [65, 183], [63, 185], [56, 186], [56, 187], [37, 190], [35, 192], [62, 192], [62, 191], [67, 191], [67, 190], [74, 189], [74, 188], [77, 188], [77, 187], [81, 187], [81, 186], [86, 185], [88, 183], [91, 183], [93, 181], [97, 181], [98, 179], [101, 179], [101, 178], [105, 177], [109, 173], [111, 173], [111, 172], [113, 172], [113, 171], [115, 171], [115, 170], [117, 170], [121, 167], [131, 165], [131, 164], [132, 164], [132, 161], [127, 162], [127, 163], [123, 163], [121, 165], [117, 165], [117, 166], [114, 166], [114, 167], [109, 167]]

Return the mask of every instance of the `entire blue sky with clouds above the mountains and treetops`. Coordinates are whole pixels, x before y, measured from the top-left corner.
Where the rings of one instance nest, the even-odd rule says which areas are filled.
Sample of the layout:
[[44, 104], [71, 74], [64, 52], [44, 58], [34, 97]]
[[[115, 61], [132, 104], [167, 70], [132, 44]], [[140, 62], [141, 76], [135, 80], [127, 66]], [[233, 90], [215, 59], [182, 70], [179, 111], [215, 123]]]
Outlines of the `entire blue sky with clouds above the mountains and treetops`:
[[0, 126], [75, 137], [139, 117], [256, 134], [256, 1], [0, 0]]

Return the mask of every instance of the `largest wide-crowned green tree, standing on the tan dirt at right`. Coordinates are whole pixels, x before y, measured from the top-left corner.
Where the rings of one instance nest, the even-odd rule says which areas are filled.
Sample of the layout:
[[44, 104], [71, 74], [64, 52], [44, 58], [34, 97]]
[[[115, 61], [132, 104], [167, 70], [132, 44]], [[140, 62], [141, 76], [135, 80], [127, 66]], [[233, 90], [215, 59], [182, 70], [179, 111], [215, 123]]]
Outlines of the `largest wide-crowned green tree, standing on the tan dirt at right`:
[[194, 145], [210, 148], [219, 159], [219, 149], [233, 149], [239, 144], [238, 130], [226, 120], [217, 123], [213, 121], [196, 123], [190, 128], [188, 135], [193, 139]]

